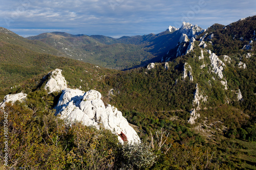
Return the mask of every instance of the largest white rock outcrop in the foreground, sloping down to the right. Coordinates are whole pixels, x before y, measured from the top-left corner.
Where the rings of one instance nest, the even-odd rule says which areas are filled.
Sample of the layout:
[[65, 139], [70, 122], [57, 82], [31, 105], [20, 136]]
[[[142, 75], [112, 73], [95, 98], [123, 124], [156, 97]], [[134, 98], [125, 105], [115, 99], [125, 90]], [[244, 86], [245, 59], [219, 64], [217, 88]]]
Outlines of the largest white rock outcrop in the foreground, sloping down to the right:
[[70, 122], [81, 121], [86, 126], [102, 126], [119, 135], [120, 142], [123, 142], [121, 134], [126, 136], [128, 142], [140, 142], [139, 136], [122, 113], [111, 105], [105, 107], [100, 98], [101, 94], [96, 90], [84, 93], [78, 89], [67, 88], [63, 90], [55, 107], [56, 115]]

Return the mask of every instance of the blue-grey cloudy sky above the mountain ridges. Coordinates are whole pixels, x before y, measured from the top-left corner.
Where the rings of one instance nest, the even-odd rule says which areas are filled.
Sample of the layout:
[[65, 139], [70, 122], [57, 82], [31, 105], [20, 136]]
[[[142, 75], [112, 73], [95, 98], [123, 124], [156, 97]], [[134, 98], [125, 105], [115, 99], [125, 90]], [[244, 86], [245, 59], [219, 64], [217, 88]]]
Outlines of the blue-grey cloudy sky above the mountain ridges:
[[23, 37], [58, 31], [119, 38], [158, 34], [182, 21], [207, 29], [253, 15], [255, 0], [2, 0], [0, 27]]

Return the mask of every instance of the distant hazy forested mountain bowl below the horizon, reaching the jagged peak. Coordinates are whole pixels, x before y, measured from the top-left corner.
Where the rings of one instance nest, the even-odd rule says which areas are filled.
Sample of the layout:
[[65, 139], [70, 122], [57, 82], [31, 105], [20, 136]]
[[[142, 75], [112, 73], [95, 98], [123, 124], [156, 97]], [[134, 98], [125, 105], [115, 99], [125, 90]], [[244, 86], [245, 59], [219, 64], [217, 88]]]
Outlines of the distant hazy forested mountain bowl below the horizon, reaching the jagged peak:
[[[176, 30], [177, 32], [174, 32]], [[184, 33], [195, 36], [202, 29], [190, 23], [183, 23], [180, 29], [143, 36], [111, 38], [102, 35], [71, 35], [63, 32], [43, 33], [28, 37], [40, 40], [68, 57], [99, 66], [115, 69], [129, 69], [158, 62], [168, 50], [175, 47]]]

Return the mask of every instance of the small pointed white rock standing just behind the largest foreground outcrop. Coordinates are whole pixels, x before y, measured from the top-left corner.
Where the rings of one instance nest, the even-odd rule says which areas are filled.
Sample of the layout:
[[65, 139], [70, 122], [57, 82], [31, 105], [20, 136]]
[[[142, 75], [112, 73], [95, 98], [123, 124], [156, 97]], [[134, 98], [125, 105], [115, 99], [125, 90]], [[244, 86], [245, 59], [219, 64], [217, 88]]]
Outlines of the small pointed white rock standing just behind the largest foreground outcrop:
[[50, 76], [50, 80], [45, 86], [45, 89], [49, 90], [48, 93], [61, 91], [67, 88], [67, 81], [65, 80], [65, 77], [62, 76], [61, 71], [61, 69], [56, 68], [52, 72], [49, 72], [48, 76]]

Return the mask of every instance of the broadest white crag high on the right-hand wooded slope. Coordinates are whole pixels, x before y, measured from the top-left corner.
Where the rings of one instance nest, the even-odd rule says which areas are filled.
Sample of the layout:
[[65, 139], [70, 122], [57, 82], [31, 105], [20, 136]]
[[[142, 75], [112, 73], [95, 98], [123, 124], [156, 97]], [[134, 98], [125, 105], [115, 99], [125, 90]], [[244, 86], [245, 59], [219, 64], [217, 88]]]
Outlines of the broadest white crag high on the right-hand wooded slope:
[[217, 74], [222, 79], [223, 78], [222, 71], [223, 71], [223, 66], [225, 66], [225, 64], [214, 53], [210, 54], [209, 58], [212, 66], [212, 71], [215, 72], [215, 74]]

